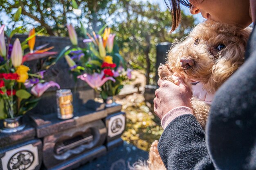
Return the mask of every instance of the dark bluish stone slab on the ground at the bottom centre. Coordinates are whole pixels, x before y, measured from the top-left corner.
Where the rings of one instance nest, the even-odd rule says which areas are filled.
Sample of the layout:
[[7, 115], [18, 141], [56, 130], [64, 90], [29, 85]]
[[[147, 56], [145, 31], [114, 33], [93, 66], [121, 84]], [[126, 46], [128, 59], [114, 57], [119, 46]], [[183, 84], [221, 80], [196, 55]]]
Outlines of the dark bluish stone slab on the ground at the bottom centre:
[[132, 165], [138, 159], [147, 160], [148, 152], [124, 142], [123, 145], [113, 148], [103, 157], [86, 163], [76, 170], [129, 170], [128, 165]]

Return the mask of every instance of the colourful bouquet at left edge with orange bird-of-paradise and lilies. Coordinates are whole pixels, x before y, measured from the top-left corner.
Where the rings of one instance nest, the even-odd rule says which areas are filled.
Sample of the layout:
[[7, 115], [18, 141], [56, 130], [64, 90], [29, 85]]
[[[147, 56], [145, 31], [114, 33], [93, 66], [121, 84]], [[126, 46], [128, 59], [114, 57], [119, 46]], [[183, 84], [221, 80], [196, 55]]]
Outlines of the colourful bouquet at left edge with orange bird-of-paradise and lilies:
[[[56, 52], [49, 52], [53, 47], [43, 49], [45, 45], [34, 49], [37, 35], [34, 28], [24, 42], [20, 43], [17, 38], [12, 45], [10, 42], [14, 33], [7, 29], [4, 36], [4, 27], [0, 27], [0, 119], [15, 119], [34, 108], [47, 88], [60, 88], [55, 82], [45, 82], [45, 70], [31, 73], [27, 66], [27, 62], [40, 59], [41, 68], [49, 68], [49, 60], [45, 58]], [[27, 48], [29, 52], [24, 53]], [[11, 128], [8, 122], [4, 121], [4, 127]]]

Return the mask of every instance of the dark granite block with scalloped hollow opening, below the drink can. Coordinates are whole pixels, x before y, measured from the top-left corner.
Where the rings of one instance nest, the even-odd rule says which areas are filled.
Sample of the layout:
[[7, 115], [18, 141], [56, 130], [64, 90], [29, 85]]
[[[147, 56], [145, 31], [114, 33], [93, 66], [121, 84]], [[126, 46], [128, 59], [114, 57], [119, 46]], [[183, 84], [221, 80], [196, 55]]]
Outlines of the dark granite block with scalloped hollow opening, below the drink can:
[[88, 150], [102, 146], [106, 127], [101, 120], [92, 121], [43, 138], [43, 163], [47, 169], [67, 162]]

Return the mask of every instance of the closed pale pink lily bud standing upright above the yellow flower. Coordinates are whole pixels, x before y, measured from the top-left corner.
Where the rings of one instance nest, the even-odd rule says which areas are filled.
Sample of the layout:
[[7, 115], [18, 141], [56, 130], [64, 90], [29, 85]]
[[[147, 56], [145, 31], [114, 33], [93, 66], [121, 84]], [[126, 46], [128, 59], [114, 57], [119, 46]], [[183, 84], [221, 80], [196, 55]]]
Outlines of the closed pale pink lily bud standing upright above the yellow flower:
[[20, 40], [16, 38], [11, 51], [11, 62], [14, 67], [18, 67], [22, 64], [22, 48]]

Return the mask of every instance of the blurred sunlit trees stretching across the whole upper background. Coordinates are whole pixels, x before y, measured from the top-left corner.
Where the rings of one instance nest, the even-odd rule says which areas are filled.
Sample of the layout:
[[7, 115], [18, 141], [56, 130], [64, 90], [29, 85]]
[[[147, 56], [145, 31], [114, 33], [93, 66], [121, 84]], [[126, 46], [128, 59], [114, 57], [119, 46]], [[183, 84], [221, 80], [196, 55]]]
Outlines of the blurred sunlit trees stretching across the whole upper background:
[[[156, 4], [135, 0], [1, 0], [0, 11], [13, 15], [13, 8], [22, 7], [22, 29], [27, 25], [44, 28], [44, 34], [67, 36], [66, 24], [78, 28], [79, 20], [88, 32], [98, 31], [104, 24], [112, 26], [117, 34], [121, 54], [135, 69], [146, 75], [146, 83], [152, 84], [155, 74], [156, 45], [173, 42], [191, 30], [194, 18], [182, 13], [181, 26], [168, 35], [171, 26], [169, 11], [161, 11]], [[77, 7], [78, 9], [76, 9]], [[2, 24], [2, 18], [0, 18]], [[10, 23], [8, 26], [14, 26]], [[76, 29], [82, 37], [81, 29]], [[150, 79], [152, 78], [152, 79]]]

